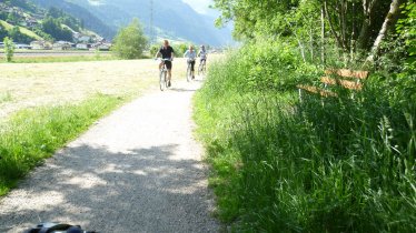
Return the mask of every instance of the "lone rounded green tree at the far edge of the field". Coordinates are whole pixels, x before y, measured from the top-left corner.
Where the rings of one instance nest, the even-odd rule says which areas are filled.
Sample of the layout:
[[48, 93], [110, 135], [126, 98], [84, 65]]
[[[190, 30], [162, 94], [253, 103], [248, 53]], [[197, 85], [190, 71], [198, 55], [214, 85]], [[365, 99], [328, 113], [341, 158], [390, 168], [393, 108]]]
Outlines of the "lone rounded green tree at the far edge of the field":
[[147, 42], [139, 20], [135, 18], [129, 26], [117, 33], [111, 50], [120, 58], [138, 59], [142, 57]]

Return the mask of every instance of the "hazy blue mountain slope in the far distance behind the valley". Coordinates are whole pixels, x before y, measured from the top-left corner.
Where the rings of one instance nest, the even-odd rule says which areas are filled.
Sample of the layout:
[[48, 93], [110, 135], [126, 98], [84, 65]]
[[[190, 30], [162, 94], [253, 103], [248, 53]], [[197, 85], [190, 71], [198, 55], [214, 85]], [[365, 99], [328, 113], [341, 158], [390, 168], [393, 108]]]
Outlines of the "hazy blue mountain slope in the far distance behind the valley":
[[[139, 18], [149, 33], [149, 0], [33, 0], [43, 7], [58, 7], [83, 20], [85, 26], [106, 38]], [[232, 41], [229, 29], [216, 29], [214, 18], [196, 12], [181, 0], [153, 0], [153, 27], [158, 38], [224, 45]]]

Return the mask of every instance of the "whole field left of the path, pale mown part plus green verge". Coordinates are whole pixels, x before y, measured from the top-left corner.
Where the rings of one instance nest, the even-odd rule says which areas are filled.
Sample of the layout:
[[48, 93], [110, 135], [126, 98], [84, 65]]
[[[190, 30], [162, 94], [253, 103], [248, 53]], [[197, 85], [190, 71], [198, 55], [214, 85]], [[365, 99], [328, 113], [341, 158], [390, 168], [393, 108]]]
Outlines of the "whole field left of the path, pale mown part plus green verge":
[[[159, 91], [151, 59], [0, 63], [0, 196], [98, 119]], [[176, 59], [174, 87], [185, 70]]]

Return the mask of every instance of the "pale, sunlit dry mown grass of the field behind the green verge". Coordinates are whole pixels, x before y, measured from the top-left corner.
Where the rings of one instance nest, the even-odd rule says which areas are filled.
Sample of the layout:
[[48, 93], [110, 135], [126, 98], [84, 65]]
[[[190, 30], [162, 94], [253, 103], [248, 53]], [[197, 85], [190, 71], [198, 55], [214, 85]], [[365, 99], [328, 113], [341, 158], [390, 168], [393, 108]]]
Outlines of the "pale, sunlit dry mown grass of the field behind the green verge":
[[[0, 118], [21, 109], [80, 102], [96, 93], [135, 97], [158, 87], [158, 62], [118, 60], [0, 64]], [[174, 80], [185, 79], [186, 61], [174, 61]], [[184, 77], [184, 78], [182, 78]]]

